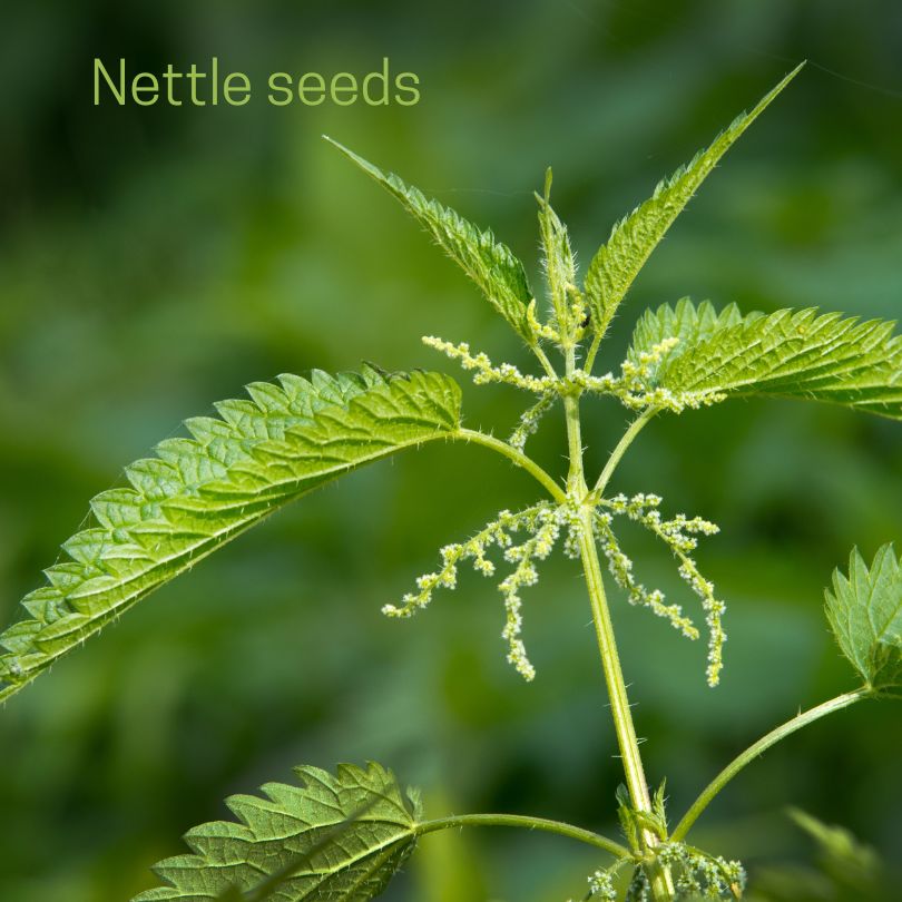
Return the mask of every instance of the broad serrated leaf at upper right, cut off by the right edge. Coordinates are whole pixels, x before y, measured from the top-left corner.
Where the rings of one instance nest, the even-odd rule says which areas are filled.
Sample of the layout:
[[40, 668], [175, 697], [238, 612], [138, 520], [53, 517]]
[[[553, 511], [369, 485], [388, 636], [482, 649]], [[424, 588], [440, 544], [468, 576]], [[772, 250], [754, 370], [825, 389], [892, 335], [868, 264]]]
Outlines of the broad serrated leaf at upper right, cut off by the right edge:
[[668, 337], [678, 344], [648, 367], [646, 388], [674, 395], [715, 392], [769, 394], [844, 404], [902, 419], [902, 336], [895, 324], [860, 322], [839, 313], [781, 310], [719, 315], [680, 301], [646, 313], [633, 336], [628, 360]]

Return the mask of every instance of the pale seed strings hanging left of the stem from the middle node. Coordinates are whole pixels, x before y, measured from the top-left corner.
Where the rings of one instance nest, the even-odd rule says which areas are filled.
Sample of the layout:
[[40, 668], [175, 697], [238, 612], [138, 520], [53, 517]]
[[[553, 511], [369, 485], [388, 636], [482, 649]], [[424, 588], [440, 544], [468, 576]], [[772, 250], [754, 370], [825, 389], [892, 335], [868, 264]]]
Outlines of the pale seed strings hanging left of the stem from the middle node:
[[[453, 589], [458, 584], [458, 568], [463, 561], [471, 561], [473, 569], [483, 576], [494, 575], [496, 565], [488, 557], [492, 546], [502, 551], [503, 559], [512, 563], [513, 570], [499, 584], [504, 599], [506, 620], [501, 638], [508, 644], [508, 661], [526, 679], [536, 676], [536, 669], [527, 656], [520, 634], [522, 631], [522, 599], [520, 591], [533, 586], [539, 571], [537, 563], [545, 560], [555, 549], [561, 530], [567, 530], [565, 552], [570, 557], [579, 555], [578, 512], [569, 504], [555, 506], [548, 502], [511, 513], [502, 510], [490, 523], [465, 542], [447, 545], [441, 549], [442, 566], [437, 571], [424, 573], [416, 580], [416, 592], [408, 592], [400, 606], [385, 605], [382, 612], [389, 617], [410, 617], [424, 608], [435, 589]], [[526, 532], [526, 541], [517, 545], [513, 533]]]

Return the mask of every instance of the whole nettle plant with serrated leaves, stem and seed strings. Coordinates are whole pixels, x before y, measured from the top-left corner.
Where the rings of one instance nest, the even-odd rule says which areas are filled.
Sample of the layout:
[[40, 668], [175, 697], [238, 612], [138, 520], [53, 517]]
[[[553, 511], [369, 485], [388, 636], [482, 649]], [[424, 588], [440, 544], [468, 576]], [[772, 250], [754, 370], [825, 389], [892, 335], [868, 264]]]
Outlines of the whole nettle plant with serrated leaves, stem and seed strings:
[[[797, 70], [796, 70], [797, 71]], [[684, 637], [707, 641], [707, 682], [724, 666], [725, 606], [699, 571], [698, 539], [717, 531], [700, 518], [665, 513], [657, 494], [626, 497], [609, 486], [639, 431], [658, 414], [683, 413], [755, 394], [843, 404], [902, 419], [902, 337], [889, 322], [839, 313], [781, 310], [743, 314], [689, 300], [646, 312], [619, 369], [594, 372], [599, 346], [639, 269], [723, 154], [780, 94], [792, 72], [706, 150], [661, 182], [619, 222], [580, 286], [567, 228], [550, 205], [550, 173], [537, 195], [548, 304], [540, 310], [522, 264], [510, 249], [455, 212], [424, 197], [345, 148], [354, 163], [393, 194], [439, 246], [475, 282], [532, 352], [536, 372], [496, 365], [465, 344], [424, 341], [473, 374], [478, 385], [513, 386], [530, 400], [512, 435], [502, 440], [462, 424], [461, 390], [438, 372], [386, 373], [366, 366], [335, 376], [282, 375], [278, 384], [247, 386], [249, 400], [216, 405], [218, 418], [186, 422], [190, 438], [168, 439], [156, 457], [126, 470], [130, 483], [91, 501], [94, 524], [62, 547], [68, 560], [22, 602], [26, 619], [1, 636], [0, 698], [8, 698], [63, 654], [140, 598], [193, 567], [269, 513], [355, 468], [430, 442], [464, 442], [501, 454], [535, 478], [540, 500], [501, 511], [470, 538], [441, 549], [434, 572], [390, 617], [410, 617], [439, 589], [452, 589], [471, 565], [498, 584], [506, 611], [501, 637], [510, 664], [536, 676], [523, 644], [523, 589], [556, 546], [580, 562], [598, 638], [625, 783], [616, 793], [622, 842], [589, 830], [520, 814], [469, 814], [428, 820], [415, 792], [378, 764], [335, 773], [297, 767], [298, 783], [266, 784], [262, 795], [227, 800], [235, 822], [190, 830], [190, 854], [159, 863], [164, 885], [150, 900], [369, 900], [403, 865], [420, 836], [449, 827], [502, 825], [562, 834], [609, 859], [585, 876], [579, 898], [616, 900], [731, 899], [745, 885], [742, 865], [689, 844], [708, 803], [742, 768], [801, 727], [865, 698], [898, 694], [902, 683], [902, 569], [891, 546], [869, 567], [852, 552], [826, 592], [826, 616], [854, 667], [859, 688], [793, 717], [731, 762], [670, 826], [664, 783], [651, 791], [611, 626], [602, 571], [629, 604], [648, 608]], [[598, 474], [584, 458], [580, 402], [601, 395], [635, 415]], [[526, 453], [552, 408], [563, 408], [569, 469], [558, 481]], [[694, 617], [649, 589], [624, 552], [625, 520], [647, 529], [671, 552], [679, 576], [698, 597]], [[494, 557], [493, 557], [494, 556]], [[703, 621], [699, 627], [698, 620]], [[612, 861], [610, 861], [612, 860]], [[136, 900], [136, 902], [137, 902]]]

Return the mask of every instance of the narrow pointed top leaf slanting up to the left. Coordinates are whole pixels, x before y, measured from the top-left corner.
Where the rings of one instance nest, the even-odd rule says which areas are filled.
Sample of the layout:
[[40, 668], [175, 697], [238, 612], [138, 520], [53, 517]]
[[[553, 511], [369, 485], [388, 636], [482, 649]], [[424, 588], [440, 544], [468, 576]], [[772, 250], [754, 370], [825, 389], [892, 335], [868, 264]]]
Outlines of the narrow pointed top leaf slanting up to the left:
[[394, 173], [384, 173], [332, 138], [323, 137], [393, 194], [448, 256], [475, 282], [517, 334], [527, 344], [535, 344], [536, 337], [527, 316], [532, 292], [523, 264], [510, 248], [497, 242], [490, 231], [481, 231], [450, 207], [425, 197], [419, 188], [405, 184]]

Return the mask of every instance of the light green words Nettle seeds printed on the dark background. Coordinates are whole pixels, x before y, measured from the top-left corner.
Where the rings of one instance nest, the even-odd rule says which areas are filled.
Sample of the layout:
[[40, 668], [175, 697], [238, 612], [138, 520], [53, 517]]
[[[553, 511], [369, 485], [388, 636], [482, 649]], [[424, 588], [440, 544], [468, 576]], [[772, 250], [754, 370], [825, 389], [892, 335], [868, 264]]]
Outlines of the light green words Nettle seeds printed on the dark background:
[[[350, 107], [364, 104], [370, 107], [391, 105], [412, 107], [420, 102], [420, 76], [415, 72], [394, 72], [389, 57], [382, 58], [380, 68], [359, 76], [352, 72], [271, 72], [266, 79], [266, 100], [274, 107], [302, 104], [318, 107], [335, 104]], [[171, 107], [243, 107], [253, 97], [251, 77], [245, 72], [223, 71], [219, 58], [209, 65], [177, 68], [171, 62], [159, 73], [130, 72], [125, 58], [107, 66], [94, 58], [94, 105], [128, 102], [140, 107], [164, 104]]]

